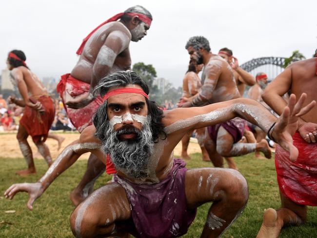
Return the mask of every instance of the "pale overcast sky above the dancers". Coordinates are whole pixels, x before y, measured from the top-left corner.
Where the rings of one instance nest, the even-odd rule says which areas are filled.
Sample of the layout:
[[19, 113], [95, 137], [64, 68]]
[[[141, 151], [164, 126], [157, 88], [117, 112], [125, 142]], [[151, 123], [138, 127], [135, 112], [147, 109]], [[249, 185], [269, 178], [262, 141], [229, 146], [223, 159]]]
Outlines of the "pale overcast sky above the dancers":
[[130, 43], [132, 64], [152, 64], [175, 87], [187, 69], [191, 36], [206, 37], [214, 53], [232, 49], [240, 64], [297, 49], [310, 58], [317, 48], [317, 0], [1, 0], [0, 69], [8, 52], [20, 49], [40, 78], [59, 80], [90, 31], [137, 4], [153, 22], [146, 37]]

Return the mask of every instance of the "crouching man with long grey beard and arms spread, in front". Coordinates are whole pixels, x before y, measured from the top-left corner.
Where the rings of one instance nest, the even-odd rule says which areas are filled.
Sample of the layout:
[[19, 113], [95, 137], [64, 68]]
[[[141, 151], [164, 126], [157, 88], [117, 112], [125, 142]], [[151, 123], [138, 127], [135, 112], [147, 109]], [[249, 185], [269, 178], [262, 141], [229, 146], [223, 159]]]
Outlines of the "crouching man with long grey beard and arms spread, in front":
[[34, 200], [80, 154], [92, 152], [106, 164], [108, 153], [118, 173], [113, 183], [93, 192], [73, 212], [70, 222], [76, 237], [122, 236], [126, 232], [142, 238], [179, 237], [187, 232], [197, 207], [210, 201], [213, 204], [201, 236], [220, 236], [246, 205], [246, 180], [231, 169], [187, 171], [182, 160], [173, 158], [178, 142], [188, 130], [241, 116], [267, 131], [296, 159], [298, 151], [291, 135], [298, 116], [316, 104], [302, 108], [305, 96], [295, 105], [292, 95], [278, 120], [258, 102], [243, 98], [162, 111], [148, 100], [147, 85], [132, 71], [106, 76], [96, 90], [104, 103], [94, 125], [62, 152], [39, 182], [12, 185], [5, 192], [7, 198], [28, 192], [27, 206], [32, 209]]

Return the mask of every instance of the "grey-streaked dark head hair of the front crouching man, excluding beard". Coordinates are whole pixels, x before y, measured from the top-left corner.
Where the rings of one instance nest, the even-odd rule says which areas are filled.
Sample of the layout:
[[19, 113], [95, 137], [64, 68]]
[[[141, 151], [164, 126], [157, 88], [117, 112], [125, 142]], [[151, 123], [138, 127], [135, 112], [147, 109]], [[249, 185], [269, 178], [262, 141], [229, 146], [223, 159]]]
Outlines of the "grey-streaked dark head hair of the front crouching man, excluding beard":
[[[95, 87], [94, 94], [98, 93], [102, 97], [111, 87], [126, 87], [129, 84], [139, 85], [146, 94], [149, 94], [149, 87], [146, 85], [145, 81], [136, 72], [131, 70], [119, 71], [105, 76]], [[148, 115], [151, 116], [153, 141], [157, 143], [159, 139], [165, 140], [166, 133], [164, 132], [164, 124], [162, 123], [162, 118], [164, 117], [163, 111], [158, 107], [156, 102], [148, 99], [145, 100], [148, 108]], [[99, 140], [104, 141], [106, 139], [105, 132], [109, 127], [107, 101], [104, 101], [97, 109], [93, 123], [96, 127], [95, 136], [97, 136]]]

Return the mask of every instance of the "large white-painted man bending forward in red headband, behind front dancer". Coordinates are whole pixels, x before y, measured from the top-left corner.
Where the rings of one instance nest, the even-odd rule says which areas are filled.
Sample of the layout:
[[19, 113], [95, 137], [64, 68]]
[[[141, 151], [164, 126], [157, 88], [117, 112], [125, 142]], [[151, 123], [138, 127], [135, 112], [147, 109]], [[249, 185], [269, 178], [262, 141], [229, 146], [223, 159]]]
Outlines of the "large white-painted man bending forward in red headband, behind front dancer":
[[[70, 74], [61, 76], [57, 86], [67, 116], [79, 132], [92, 124], [93, 114], [102, 104], [100, 96], [93, 94], [94, 87], [102, 77], [131, 68], [129, 43], [146, 36], [151, 22], [147, 9], [133, 6], [101, 23], [81, 43], [78, 63]], [[104, 165], [91, 155], [86, 173], [70, 195], [75, 205], [92, 192], [94, 181], [103, 172]]]

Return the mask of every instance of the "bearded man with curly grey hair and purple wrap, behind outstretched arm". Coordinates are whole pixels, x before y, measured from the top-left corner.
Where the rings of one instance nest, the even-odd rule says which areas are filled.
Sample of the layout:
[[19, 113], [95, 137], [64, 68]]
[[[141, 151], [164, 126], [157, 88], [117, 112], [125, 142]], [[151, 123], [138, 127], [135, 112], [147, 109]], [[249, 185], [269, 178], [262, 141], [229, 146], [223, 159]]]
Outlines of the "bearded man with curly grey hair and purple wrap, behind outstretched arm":
[[[210, 51], [209, 42], [202, 36], [191, 37], [186, 43], [190, 58], [204, 64], [201, 91], [191, 98], [182, 98], [180, 107], [198, 107], [207, 104], [225, 102], [240, 97], [231, 66], [220, 56]], [[224, 157], [240, 156], [254, 151], [261, 151], [271, 158], [271, 150], [266, 140], [258, 143], [238, 143], [244, 131], [244, 121], [234, 118], [228, 122], [207, 128], [211, 140], [205, 148], [216, 167], [223, 166]], [[199, 138], [198, 138], [199, 140]], [[221, 156], [220, 156], [221, 155]], [[234, 161], [230, 161], [235, 168]]]

